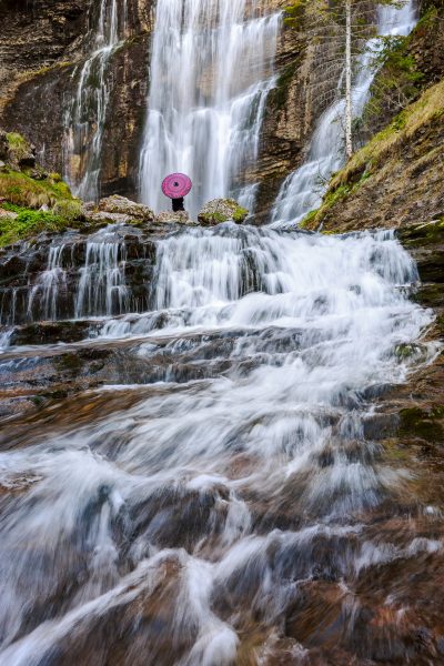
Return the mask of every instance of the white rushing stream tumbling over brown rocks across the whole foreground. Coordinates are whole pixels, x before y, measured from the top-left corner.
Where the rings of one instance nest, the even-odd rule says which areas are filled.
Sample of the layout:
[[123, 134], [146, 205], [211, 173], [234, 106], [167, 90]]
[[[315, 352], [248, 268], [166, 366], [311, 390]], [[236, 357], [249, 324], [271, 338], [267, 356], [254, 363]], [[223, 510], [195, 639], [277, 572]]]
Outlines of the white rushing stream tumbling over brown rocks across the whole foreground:
[[[102, 303], [117, 233], [84, 256]], [[441, 556], [437, 509], [406, 500], [372, 402], [432, 321], [413, 260], [391, 232], [228, 223], [154, 263], [151, 311], [123, 297], [81, 343], [117, 345], [119, 381], [1, 427], [0, 664], [428, 663], [404, 586]], [[9, 347], [0, 373], [58, 349]]]

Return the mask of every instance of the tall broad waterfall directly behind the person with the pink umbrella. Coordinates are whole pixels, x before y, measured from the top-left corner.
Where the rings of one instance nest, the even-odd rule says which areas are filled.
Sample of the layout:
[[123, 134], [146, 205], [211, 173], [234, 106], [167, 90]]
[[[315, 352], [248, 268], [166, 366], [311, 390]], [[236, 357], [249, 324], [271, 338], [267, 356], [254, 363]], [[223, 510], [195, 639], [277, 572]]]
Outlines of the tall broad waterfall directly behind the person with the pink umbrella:
[[193, 215], [208, 200], [254, 206], [248, 169], [258, 157], [280, 13], [258, 0], [158, 0], [141, 153], [141, 198], [170, 208], [160, 183], [171, 172], [194, 183]]

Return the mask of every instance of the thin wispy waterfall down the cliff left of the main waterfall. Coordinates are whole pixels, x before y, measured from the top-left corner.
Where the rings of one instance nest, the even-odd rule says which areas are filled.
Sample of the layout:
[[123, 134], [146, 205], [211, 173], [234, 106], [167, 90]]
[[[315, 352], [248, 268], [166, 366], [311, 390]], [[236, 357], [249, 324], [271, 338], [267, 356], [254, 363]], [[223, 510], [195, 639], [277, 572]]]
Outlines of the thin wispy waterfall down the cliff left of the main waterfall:
[[[72, 80], [75, 92], [65, 112], [64, 178], [75, 195], [97, 200], [102, 144], [111, 94], [110, 62], [127, 30], [127, 1], [100, 0], [92, 52]], [[97, 11], [97, 7], [92, 12]]]

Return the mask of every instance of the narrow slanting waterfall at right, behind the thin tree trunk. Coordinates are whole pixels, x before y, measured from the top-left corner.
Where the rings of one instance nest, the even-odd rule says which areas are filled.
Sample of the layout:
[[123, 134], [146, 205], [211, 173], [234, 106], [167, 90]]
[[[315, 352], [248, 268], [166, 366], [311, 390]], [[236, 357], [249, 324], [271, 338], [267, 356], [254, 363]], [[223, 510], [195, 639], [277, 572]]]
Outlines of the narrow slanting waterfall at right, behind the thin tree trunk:
[[[406, 36], [415, 26], [414, 0], [401, 8], [379, 8], [381, 36]], [[360, 59], [359, 74], [353, 87], [353, 113], [359, 118], [369, 97], [374, 78], [372, 50], [377, 50], [377, 39], [372, 39]], [[321, 115], [314, 130], [306, 161], [291, 173], [282, 184], [272, 211], [272, 223], [300, 222], [322, 201], [325, 182], [344, 163], [343, 130], [344, 99], [336, 99]]]

